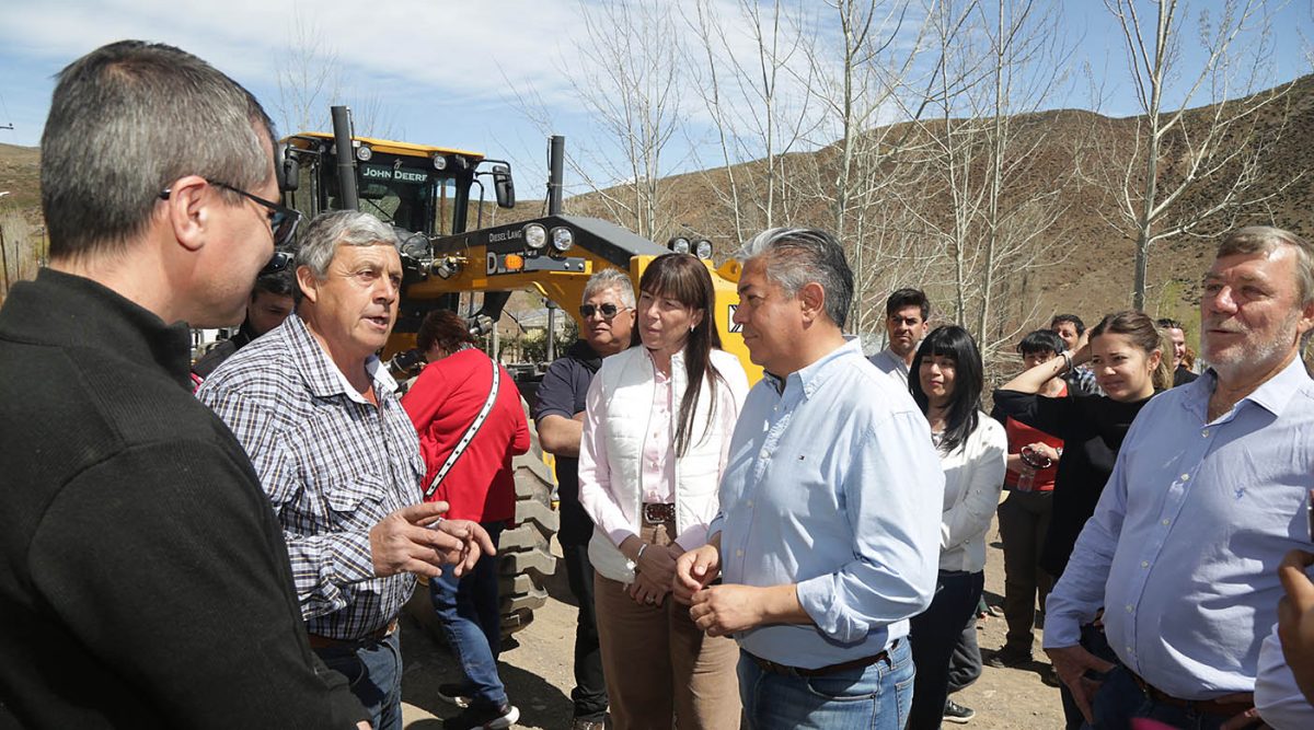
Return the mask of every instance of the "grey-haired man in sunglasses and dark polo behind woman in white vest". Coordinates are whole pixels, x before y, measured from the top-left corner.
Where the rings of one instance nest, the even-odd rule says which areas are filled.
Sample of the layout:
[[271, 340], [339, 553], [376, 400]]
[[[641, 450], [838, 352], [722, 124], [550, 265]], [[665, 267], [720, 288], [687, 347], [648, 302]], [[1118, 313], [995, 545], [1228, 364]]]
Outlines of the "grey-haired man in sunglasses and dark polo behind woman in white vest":
[[582, 340], [548, 366], [539, 386], [533, 420], [543, 450], [557, 457], [557, 492], [561, 499], [562, 559], [570, 592], [579, 605], [576, 626], [574, 701], [572, 730], [600, 730], [607, 714], [607, 683], [602, 676], [598, 625], [593, 609], [593, 565], [589, 538], [593, 520], [579, 505], [579, 439], [583, 435], [583, 404], [602, 358], [631, 344], [635, 327], [635, 289], [619, 269], [603, 269], [589, 278], [579, 306]]

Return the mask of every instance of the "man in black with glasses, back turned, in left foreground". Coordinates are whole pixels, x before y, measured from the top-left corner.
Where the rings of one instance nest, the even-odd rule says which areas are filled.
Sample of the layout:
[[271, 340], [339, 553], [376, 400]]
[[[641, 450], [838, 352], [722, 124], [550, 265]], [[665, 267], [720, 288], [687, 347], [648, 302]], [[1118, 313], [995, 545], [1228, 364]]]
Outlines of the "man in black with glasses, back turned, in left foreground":
[[[350, 727], [279, 523], [191, 395], [188, 323], [235, 324], [296, 214], [246, 89], [170, 46], [59, 74], [50, 267], [0, 310], [0, 701], [30, 727]], [[0, 712], [3, 714], [3, 712]]]

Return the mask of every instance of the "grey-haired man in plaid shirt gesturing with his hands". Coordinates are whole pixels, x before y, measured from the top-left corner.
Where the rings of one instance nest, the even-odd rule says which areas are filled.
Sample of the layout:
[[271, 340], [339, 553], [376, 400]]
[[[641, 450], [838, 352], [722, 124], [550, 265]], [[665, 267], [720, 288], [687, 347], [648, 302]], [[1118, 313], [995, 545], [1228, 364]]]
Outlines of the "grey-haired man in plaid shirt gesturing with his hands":
[[[310, 646], [380, 730], [401, 729], [397, 614], [415, 574], [469, 569], [487, 533], [423, 503], [419, 440], [376, 352], [397, 318], [397, 238], [323, 214], [296, 255], [297, 316], [223, 362], [197, 397], [251, 456], [283, 525]], [[436, 524], [435, 524], [436, 523]]]

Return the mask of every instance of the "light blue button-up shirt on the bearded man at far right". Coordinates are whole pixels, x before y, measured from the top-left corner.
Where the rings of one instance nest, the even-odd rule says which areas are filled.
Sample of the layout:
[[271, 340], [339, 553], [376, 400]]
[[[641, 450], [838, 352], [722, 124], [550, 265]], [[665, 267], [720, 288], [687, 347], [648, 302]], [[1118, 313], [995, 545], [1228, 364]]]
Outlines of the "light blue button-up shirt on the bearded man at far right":
[[1309, 548], [1314, 382], [1297, 358], [1208, 420], [1213, 370], [1156, 395], [1050, 593], [1045, 646], [1105, 607], [1118, 658], [1183, 700], [1251, 692], [1276, 620], [1277, 563]]

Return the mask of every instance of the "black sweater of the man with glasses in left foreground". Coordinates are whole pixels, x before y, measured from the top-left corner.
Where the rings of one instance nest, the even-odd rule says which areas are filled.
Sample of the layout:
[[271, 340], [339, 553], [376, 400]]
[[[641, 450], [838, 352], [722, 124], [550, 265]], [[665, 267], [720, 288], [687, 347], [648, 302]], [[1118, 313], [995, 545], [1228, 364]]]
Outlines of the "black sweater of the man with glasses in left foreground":
[[0, 309], [0, 701], [32, 727], [350, 727], [188, 331], [43, 269]]

